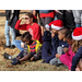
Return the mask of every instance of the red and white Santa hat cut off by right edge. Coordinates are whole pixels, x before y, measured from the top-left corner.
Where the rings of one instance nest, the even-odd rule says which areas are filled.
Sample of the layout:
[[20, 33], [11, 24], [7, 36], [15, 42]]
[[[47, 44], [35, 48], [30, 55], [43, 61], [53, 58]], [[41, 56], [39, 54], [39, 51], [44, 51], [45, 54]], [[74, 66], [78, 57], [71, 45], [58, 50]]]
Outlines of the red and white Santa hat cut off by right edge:
[[74, 31], [72, 33], [72, 38], [74, 40], [81, 40], [82, 39], [82, 27], [74, 28]]

